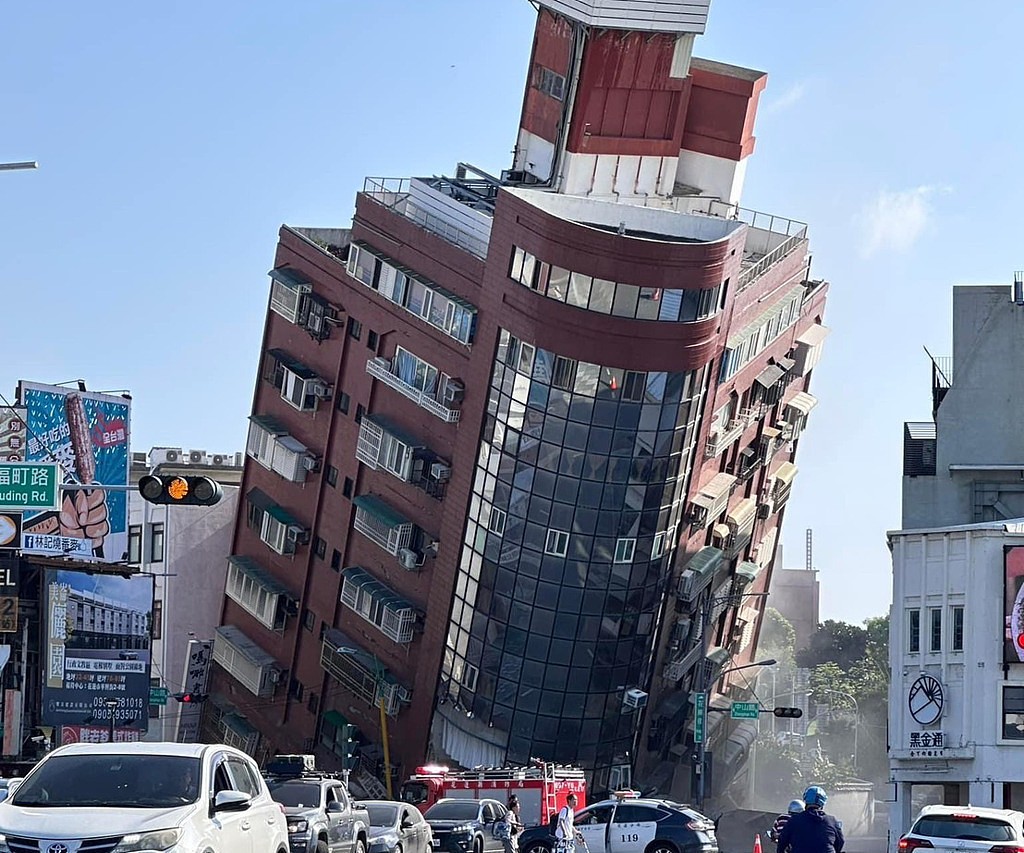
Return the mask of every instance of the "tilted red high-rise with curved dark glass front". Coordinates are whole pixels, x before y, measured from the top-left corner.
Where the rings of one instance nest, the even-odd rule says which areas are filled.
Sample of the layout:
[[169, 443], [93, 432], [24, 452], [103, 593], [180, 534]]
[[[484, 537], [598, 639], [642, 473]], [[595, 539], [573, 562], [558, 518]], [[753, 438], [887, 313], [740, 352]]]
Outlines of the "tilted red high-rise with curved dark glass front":
[[[328, 765], [354, 724], [368, 792], [383, 706], [395, 774], [537, 757], [684, 796], [687, 698], [740, 689], [815, 403], [806, 225], [738, 206], [765, 75], [541, 5], [507, 172], [368, 179], [270, 273], [213, 706]], [[711, 734], [724, 781], [746, 735]]]

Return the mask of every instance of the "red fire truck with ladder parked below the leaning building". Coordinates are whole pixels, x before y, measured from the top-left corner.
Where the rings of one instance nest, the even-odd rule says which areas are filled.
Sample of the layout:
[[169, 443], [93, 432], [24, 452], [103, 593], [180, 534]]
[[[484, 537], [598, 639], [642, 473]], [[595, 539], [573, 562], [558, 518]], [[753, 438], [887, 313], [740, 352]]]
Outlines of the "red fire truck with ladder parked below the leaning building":
[[477, 767], [450, 770], [436, 764], [417, 767], [401, 785], [401, 800], [425, 812], [444, 797], [508, 802], [519, 798], [520, 819], [525, 826], [547, 823], [565, 805], [569, 794], [577, 808], [587, 805], [587, 779], [579, 767], [535, 761], [528, 767]]

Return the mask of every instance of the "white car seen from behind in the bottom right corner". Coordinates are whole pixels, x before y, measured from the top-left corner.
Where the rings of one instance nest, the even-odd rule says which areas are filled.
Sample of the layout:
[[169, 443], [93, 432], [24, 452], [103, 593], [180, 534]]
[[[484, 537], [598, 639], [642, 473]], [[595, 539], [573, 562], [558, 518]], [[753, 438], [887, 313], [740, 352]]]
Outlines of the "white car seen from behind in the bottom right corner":
[[1024, 848], [1024, 813], [971, 806], [925, 806], [897, 847], [900, 853], [922, 847], [957, 853], [1011, 853]]

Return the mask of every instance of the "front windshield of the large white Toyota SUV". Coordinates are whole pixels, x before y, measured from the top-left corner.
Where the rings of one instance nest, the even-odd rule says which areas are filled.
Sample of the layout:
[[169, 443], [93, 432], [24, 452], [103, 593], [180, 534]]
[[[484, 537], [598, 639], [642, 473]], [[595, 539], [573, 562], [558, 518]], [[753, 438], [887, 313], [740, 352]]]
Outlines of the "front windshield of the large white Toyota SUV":
[[65, 755], [39, 764], [17, 786], [15, 806], [166, 809], [195, 803], [198, 758], [155, 755]]

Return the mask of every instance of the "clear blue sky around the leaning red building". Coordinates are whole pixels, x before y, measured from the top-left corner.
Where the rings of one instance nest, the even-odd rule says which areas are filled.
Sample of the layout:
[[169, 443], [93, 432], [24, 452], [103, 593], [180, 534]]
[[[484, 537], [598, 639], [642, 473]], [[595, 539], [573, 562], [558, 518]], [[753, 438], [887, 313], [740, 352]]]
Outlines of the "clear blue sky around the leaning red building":
[[[244, 446], [276, 231], [345, 226], [365, 175], [507, 166], [526, 0], [7, 8], [0, 392], [134, 395], [135, 450]], [[833, 283], [820, 403], [783, 542], [814, 529], [822, 611], [890, 598], [902, 421], [930, 413], [950, 287], [1020, 256], [1017, 34], [923, 0], [715, 0], [698, 55], [769, 73], [743, 204], [811, 225]]]

